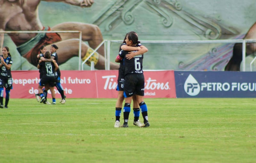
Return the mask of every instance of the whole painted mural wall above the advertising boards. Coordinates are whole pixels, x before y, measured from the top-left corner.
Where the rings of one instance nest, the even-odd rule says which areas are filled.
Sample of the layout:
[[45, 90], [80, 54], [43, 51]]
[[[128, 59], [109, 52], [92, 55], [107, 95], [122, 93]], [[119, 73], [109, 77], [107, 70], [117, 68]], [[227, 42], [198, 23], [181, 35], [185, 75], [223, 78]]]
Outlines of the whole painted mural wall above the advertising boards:
[[[237, 5], [239, 4], [239, 5]], [[182, 40], [256, 39], [254, 0], [0, 0], [0, 31], [82, 31], [84, 60], [103, 40], [110, 44], [110, 69], [127, 32], [148, 48], [144, 70], [239, 71], [241, 43], [170, 43]], [[58, 45], [61, 70], [78, 70], [78, 33], [0, 33], [12, 70], [37, 70], [41, 45]], [[115, 40], [115, 41], [114, 41]], [[246, 46], [246, 70], [256, 46]], [[50, 49], [50, 48], [49, 48]], [[88, 62], [105, 69], [104, 45]]]

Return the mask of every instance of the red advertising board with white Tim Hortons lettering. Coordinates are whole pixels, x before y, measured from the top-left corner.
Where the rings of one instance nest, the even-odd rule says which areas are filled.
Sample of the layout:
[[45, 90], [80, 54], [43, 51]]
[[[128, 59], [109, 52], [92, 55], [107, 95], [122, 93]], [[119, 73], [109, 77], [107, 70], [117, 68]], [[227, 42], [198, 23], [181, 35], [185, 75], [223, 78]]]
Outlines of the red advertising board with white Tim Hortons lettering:
[[[145, 71], [144, 76], [145, 98], [176, 98], [174, 71]], [[60, 82], [67, 98], [117, 98], [117, 77], [118, 70], [62, 70]], [[11, 98], [35, 98], [38, 71], [12, 71], [12, 78]]]

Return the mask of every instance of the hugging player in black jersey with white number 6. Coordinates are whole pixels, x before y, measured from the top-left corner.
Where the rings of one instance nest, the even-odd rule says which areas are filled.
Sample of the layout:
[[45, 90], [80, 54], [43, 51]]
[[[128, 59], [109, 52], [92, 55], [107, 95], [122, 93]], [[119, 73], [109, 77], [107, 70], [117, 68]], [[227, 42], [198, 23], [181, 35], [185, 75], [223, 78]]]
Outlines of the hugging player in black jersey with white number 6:
[[[126, 45], [136, 46], [139, 44], [138, 36], [134, 33], [129, 33], [125, 39]], [[136, 52], [136, 51], [134, 51]], [[149, 127], [148, 122], [148, 108], [144, 102], [144, 85], [145, 79], [142, 70], [143, 55], [139, 54], [133, 56], [131, 59], [127, 59], [128, 51], [121, 50], [118, 57], [120, 60], [123, 59], [125, 71], [124, 71], [124, 124], [122, 127], [128, 127], [128, 119], [131, 111], [132, 96], [136, 94], [137, 101], [140, 105], [144, 124], [141, 127]]]

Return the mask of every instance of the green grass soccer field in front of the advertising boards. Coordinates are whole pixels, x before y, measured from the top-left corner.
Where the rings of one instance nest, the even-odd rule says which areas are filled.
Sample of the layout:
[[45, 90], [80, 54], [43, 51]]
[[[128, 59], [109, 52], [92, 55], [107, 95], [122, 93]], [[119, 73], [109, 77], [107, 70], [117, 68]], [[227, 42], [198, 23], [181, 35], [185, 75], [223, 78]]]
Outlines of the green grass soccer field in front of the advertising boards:
[[0, 162], [256, 162], [255, 99], [145, 102], [150, 127], [134, 126], [131, 112], [129, 128], [114, 128], [116, 99], [67, 99], [64, 105], [10, 99], [9, 108], [0, 109]]

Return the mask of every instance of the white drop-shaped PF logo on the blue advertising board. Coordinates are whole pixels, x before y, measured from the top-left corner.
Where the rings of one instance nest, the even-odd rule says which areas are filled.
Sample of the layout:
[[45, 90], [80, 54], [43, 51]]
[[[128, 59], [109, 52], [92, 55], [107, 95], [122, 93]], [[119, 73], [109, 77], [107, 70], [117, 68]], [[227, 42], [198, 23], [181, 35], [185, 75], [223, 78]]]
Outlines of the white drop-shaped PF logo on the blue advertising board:
[[185, 81], [184, 90], [190, 96], [196, 96], [200, 92], [200, 85], [191, 74]]

